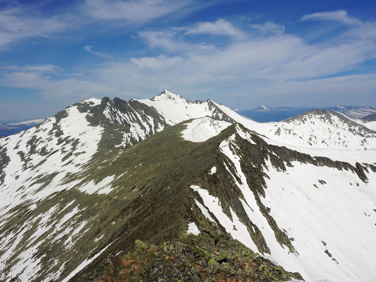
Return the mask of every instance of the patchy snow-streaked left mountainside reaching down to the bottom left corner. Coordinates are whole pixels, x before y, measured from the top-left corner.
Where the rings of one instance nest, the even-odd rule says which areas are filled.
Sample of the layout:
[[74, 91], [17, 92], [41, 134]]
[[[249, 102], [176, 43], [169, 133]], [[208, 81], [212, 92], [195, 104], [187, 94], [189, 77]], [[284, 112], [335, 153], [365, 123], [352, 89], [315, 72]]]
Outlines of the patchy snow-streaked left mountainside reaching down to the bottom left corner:
[[[87, 115], [88, 112], [80, 112], [79, 106], [71, 106], [38, 127], [0, 139], [2, 159], [6, 160], [0, 170], [0, 227], [4, 228], [4, 224], [12, 220], [16, 207], [25, 209], [28, 218], [22, 226], [15, 225], [14, 230], [3, 230], [0, 250], [6, 252], [0, 253], [0, 268], [11, 267], [7, 273], [0, 273], [0, 280], [9, 281], [18, 276], [27, 281], [38, 277], [42, 264], [42, 257], [38, 257], [41, 244], [51, 244], [53, 238], [52, 242], [62, 240], [69, 250], [77, 239], [74, 232], [87, 228], [88, 221], [80, 220], [82, 208], [75, 205], [74, 200], [68, 205], [58, 202], [39, 215], [30, 216], [37, 208], [36, 203], [72, 188], [76, 183], [65, 184], [64, 179], [84, 171], [84, 166], [97, 152], [103, 127], [90, 126]], [[100, 184], [92, 185], [91, 193], [100, 188]], [[71, 236], [67, 238], [69, 233]], [[49, 235], [45, 237], [45, 234]], [[53, 267], [59, 260], [46, 263]], [[63, 262], [59, 269], [50, 272], [49, 278], [59, 277], [64, 269]]]

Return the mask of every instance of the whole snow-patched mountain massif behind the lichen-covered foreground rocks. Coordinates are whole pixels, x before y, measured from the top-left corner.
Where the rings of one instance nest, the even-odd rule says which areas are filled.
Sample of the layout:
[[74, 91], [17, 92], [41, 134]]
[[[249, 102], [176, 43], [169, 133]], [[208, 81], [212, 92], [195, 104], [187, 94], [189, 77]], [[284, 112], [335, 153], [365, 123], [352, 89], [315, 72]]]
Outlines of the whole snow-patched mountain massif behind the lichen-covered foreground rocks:
[[374, 130], [323, 110], [261, 124], [168, 91], [83, 100], [0, 139], [0, 280], [90, 281], [135, 239], [215, 223], [306, 280], [372, 281]]

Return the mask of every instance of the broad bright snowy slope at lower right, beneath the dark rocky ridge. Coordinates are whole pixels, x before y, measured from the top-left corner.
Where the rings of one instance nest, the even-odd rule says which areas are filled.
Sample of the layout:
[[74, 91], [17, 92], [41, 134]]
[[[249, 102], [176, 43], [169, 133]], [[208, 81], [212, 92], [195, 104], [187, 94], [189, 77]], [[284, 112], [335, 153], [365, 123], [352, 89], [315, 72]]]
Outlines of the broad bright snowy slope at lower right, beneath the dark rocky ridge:
[[[249, 148], [262, 147], [261, 151], [266, 153], [259, 167], [264, 172], [264, 194], [255, 194], [252, 187], [255, 182], [249, 173], [251, 167], [247, 164], [244, 142], [252, 144]], [[220, 190], [211, 191], [206, 185], [193, 183], [191, 188], [203, 201], [200, 205], [203, 214], [209, 211], [208, 220], [215, 218], [233, 238], [255, 252], [271, 256], [286, 270], [298, 271], [306, 280], [373, 281], [376, 270], [370, 265], [376, 263], [376, 191], [373, 189], [376, 167], [363, 164], [366, 179], [361, 179], [355, 171], [331, 167], [329, 163], [317, 165], [297, 160], [290, 163], [287, 159], [291, 160], [291, 156], [286, 158], [271, 148], [237, 127], [237, 133], [225, 139], [219, 150], [226, 156], [221, 166], [240, 191], [232, 196], [241, 204], [235, 204], [235, 200], [224, 202], [223, 198], [214, 196]], [[273, 163], [271, 158], [275, 158]], [[248, 161], [253, 169], [258, 167], [252, 159]], [[283, 169], [276, 165], [280, 161], [284, 163]], [[227, 191], [230, 190], [227, 188]], [[227, 192], [225, 197], [230, 194]], [[263, 213], [265, 207], [268, 217]], [[232, 218], [224, 213], [225, 208]], [[236, 212], [240, 209], [246, 212], [246, 218], [240, 219], [242, 213]], [[293, 249], [276, 240], [269, 216], [278, 229], [293, 238]], [[256, 246], [246, 224], [249, 220], [254, 224], [252, 230], [256, 226], [262, 233], [269, 251]]]

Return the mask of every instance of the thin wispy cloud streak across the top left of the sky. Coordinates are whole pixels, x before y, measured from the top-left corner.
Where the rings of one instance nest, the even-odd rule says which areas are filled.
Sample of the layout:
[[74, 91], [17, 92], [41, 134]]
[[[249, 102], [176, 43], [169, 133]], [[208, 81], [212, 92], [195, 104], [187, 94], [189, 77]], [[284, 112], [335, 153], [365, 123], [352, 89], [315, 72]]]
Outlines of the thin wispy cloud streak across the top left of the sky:
[[[195, 0], [86, 0], [69, 5], [59, 14], [45, 15], [32, 4], [4, 5], [0, 11], [0, 51], [9, 45], [23, 43], [36, 37], [58, 37], [60, 34], [92, 34], [108, 29], [120, 29], [124, 26], [142, 26], [162, 17], [177, 17], [203, 8], [207, 5]], [[113, 24], [110, 24], [113, 23]], [[100, 29], [95, 27], [100, 26]], [[95, 52], [95, 51], [94, 51]]]

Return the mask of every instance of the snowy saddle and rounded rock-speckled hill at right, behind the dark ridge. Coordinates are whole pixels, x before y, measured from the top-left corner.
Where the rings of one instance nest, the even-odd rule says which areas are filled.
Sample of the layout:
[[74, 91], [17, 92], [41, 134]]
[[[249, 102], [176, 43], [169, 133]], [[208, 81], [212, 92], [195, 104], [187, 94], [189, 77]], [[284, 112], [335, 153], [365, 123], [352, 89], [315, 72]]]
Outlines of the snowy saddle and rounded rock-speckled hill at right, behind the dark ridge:
[[279, 143], [308, 148], [376, 149], [376, 132], [336, 112], [312, 110], [285, 121], [265, 124], [215, 104], [233, 120]]

